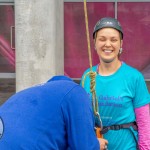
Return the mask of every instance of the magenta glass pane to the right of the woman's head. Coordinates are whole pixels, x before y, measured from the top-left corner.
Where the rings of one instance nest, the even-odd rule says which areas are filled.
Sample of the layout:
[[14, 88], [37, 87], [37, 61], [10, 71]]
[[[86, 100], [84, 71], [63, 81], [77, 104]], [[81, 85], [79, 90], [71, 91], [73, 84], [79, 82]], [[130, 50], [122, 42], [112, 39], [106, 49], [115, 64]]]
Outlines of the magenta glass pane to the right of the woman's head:
[[118, 3], [118, 19], [124, 29], [121, 59], [150, 79], [150, 2]]

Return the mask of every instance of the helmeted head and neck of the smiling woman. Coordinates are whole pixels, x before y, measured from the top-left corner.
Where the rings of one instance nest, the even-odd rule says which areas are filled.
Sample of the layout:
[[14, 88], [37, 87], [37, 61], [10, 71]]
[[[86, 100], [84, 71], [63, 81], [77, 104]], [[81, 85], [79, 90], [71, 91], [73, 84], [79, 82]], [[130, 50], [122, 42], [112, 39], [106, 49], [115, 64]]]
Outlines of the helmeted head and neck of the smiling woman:
[[[121, 36], [120, 36], [121, 35]], [[95, 49], [99, 56], [98, 73], [110, 75], [120, 66], [119, 56], [122, 49], [123, 31], [120, 23], [114, 18], [102, 18], [97, 22], [93, 31]], [[111, 67], [109, 67], [111, 64]], [[107, 66], [105, 68], [105, 66]]]

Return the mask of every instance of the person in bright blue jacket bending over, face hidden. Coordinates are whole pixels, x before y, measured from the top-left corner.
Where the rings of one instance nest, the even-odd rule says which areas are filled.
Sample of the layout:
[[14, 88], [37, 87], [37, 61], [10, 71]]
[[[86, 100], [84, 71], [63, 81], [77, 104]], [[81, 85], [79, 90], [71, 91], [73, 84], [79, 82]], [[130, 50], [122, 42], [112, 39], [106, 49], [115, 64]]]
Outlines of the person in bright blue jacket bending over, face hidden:
[[22, 90], [0, 107], [0, 150], [103, 150], [84, 89], [66, 76]]

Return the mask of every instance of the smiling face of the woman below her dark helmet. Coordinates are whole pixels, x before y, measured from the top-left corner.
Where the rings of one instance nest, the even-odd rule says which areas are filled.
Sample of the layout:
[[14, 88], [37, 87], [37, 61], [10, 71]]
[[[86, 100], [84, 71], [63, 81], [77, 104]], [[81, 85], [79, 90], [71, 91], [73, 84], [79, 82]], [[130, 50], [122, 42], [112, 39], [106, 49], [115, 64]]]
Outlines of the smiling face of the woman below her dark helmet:
[[[97, 32], [94, 41], [95, 49], [101, 63], [110, 63], [115, 59], [118, 59], [118, 56], [120, 55], [119, 50], [122, 47], [122, 40], [120, 40], [120, 34], [117, 30], [103, 28]], [[119, 64], [117, 67], [119, 67]], [[102, 68], [99, 66], [99, 71], [102, 71], [100, 69]]]

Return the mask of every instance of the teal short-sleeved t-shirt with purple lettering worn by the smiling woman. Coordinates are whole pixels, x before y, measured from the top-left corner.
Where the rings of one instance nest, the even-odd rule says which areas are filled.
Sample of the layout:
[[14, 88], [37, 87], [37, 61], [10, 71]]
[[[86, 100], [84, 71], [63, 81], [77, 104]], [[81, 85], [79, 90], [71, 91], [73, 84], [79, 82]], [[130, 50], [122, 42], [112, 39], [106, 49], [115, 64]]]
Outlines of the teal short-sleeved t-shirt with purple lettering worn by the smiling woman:
[[[97, 66], [92, 70], [97, 72]], [[87, 69], [84, 72], [81, 82], [91, 97], [90, 77], [87, 75], [89, 71], [90, 69]], [[112, 75], [101, 76], [97, 73], [95, 81], [103, 126], [134, 122], [136, 121], [134, 109], [150, 103], [143, 75], [124, 62]], [[138, 132], [132, 128], [131, 130], [109, 130], [104, 134], [104, 138], [109, 142], [108, 150], [136, 150], [135, 137], [138, 140]]]

